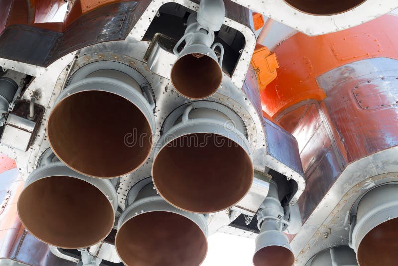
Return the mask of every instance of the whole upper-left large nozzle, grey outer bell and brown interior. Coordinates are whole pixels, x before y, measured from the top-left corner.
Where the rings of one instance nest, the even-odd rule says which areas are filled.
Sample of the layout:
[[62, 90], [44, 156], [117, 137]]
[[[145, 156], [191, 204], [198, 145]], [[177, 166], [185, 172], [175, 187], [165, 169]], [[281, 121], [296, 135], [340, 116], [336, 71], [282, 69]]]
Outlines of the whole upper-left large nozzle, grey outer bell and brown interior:
[[150, 93], [142, 89], [149, 86], [143, 84], [138, 72], [121, 63], [102, 61], [79, 69], [48, 118], [48, 140], [57, 157], [97, 178], [141, 166], [151, 151], [155, 124]]

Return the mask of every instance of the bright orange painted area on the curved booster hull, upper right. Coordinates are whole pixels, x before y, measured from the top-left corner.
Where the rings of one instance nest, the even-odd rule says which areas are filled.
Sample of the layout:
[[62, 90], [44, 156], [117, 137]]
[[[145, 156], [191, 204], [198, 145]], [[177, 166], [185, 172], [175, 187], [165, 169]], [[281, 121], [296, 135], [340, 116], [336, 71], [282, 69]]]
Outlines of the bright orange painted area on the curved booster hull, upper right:
[[384, 15], [360, 26], [322, 36], [297, 33], [275, 49], [277, 78], [261, 92], [263, 111], [275, 117], [303, 100], [322, 100], [326, 94], [316, 78], [355, 61], [398, 59], [398, 17]]

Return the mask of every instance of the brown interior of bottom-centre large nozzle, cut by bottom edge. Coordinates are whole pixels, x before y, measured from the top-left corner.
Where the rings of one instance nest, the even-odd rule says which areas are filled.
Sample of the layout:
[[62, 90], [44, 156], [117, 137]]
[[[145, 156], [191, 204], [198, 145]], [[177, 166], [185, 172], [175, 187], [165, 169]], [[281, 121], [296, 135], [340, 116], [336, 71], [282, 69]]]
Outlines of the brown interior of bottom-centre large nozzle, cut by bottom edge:
[[125, 222], [116, 235], [116, 250], [126, 265], [199, 266], [207, 254], [207, 240], [190, 219], [156, 211]]

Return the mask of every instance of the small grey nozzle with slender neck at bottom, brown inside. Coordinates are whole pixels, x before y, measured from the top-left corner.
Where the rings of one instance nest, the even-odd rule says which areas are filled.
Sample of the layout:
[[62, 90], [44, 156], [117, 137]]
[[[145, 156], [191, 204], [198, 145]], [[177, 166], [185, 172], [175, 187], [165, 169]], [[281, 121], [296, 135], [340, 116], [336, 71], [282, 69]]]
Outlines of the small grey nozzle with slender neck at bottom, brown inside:
[[261, 230], [256, 238], [255, 266], [293, 266], [295, 256], [288, 237], [282, 232], [280, 217], [284, 217], [284, 210], [278, 199], [278, 187], [270, 181], [268, 195], [257, 214]]

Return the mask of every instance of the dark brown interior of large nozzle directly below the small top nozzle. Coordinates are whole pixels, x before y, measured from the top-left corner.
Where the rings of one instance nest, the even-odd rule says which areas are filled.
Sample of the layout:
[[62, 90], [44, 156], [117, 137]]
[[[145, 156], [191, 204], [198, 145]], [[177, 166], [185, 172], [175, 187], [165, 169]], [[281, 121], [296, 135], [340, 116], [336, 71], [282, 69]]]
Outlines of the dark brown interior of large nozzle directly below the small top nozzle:
[[240, 201], [253, 182], [246, 151], [212, 133], [176, 138], [161, 149], [152, 168], [154, 184], [172, 205], [190, 212], [213, 213]]

